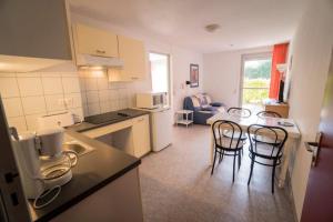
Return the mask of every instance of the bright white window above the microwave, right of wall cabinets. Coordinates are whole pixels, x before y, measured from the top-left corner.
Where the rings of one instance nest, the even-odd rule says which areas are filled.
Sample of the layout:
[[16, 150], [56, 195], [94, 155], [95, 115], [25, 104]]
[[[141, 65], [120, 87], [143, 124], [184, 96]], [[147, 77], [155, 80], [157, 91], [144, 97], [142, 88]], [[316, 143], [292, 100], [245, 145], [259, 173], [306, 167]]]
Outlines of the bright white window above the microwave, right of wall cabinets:
[[153, 92], [170, 91], [169, 56], [160, 53], [149, 53], [151, 83]]

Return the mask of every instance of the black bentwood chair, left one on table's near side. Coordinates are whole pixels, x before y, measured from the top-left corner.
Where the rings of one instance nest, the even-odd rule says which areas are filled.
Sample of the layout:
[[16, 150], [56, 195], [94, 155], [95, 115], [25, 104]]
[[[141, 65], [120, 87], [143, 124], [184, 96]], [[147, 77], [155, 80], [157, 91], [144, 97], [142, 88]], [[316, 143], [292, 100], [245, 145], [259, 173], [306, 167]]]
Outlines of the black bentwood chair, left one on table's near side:
[[[235, 137], [238, 132], [242, 133], [241, 127], [232, 121], [218, 120], [212, 125], [214, 135], [214, 160], [211, 174], [214, 172], [214, 165], [216, 157], [219, 155], [219, 163], [222, 161], [223, 155], [233, 157], [232, 168], [232, 182], [234, 182], [235, 160], [238, 157], [239, 169], [241, 167], [241, 151], [243, 149], [243, 141], [240, 137]], [[228, 130], [230, 137], [225, 137], [224, 133]]]

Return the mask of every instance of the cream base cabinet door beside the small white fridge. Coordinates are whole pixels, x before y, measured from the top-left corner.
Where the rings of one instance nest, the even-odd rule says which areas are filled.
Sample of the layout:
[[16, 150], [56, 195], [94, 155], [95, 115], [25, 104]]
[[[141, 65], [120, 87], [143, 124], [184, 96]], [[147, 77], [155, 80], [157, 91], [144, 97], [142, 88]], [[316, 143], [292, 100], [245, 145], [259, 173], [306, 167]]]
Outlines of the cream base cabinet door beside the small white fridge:
[[137, 158], [149, 153], [150, 148], [150, 131], [149, 131], [149, 115], [134, 118], [132, 127], [134, 155]]

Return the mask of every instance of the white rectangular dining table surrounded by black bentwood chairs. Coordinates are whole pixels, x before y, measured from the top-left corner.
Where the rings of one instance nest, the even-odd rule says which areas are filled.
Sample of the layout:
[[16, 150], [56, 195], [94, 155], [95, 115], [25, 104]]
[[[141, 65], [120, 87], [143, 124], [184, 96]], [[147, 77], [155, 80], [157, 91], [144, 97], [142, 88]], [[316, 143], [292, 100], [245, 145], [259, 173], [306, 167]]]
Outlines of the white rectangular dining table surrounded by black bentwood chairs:
[[[287, 132], [287, 140], [285, 141], [283, 148], [283, 155], [282, 155], [282, 164], [279, 175], [279, 188], [284, 186], [286, 172], [291, 162], [291, 153], [293, 149], [296, 149], [297, 143], [301, 139], [301, 132], [296, 122], [293, 119], [283, 119], [283, 118], [271, 118], [271, 117], [258, 117], [255, 114], [250, 115], [249, 118], [229, 114], [226, 111], [220, 112], [206, 120], [206, 123], [211, 125], [211, 162], [213, 164], [214, 159], [214, 135], [212, 125], [218, 120], [228, 120], [238, 123], [244, 133], [248, 133], [248, 128], [251, 124], [261, 124], [268, 127], [281, 127]], [[269, 137], [269, 135], [266, 135]]]

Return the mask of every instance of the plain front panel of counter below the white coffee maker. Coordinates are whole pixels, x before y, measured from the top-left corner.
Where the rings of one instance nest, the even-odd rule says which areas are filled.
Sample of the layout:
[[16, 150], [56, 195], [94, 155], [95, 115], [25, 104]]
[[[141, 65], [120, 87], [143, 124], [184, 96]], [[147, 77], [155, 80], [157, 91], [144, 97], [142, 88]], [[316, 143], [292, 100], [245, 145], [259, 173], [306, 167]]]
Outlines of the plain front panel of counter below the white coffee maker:
[[143, 221], [139, 169], [129, 171], [51, 220], [63, 221]]

